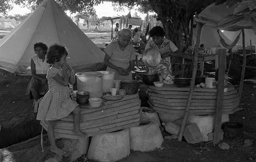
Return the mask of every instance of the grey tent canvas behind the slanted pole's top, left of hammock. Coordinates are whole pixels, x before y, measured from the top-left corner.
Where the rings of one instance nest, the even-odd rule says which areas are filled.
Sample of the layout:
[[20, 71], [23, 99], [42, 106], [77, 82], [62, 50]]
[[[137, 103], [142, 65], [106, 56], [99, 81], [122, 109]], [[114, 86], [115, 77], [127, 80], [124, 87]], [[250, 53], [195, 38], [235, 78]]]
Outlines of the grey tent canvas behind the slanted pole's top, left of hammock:
[[[193, 45], [196, 45], [196, 43], [197, 43], [197, 27], [194, 28], [193, 34], [194, 34]], [[228, 44], [232, 43], [232, 41], [230, 39], [228, 39], [221, 31], [220, 31], [220, 35], [225, 40], [226, 43], [228, 43]], [[205, 48], [217, 47], [220, 44], [220, 37], [217, 32], [217, 29], [204, 25], [201, 30], [200, 44], [204, 44]]]

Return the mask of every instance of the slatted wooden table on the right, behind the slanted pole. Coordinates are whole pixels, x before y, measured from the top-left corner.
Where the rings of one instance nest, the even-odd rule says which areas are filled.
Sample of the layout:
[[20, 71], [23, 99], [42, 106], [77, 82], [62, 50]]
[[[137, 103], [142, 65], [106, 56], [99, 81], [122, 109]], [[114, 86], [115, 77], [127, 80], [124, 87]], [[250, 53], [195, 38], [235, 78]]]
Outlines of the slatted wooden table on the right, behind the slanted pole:
[[[148, 104], [157, 112], [184, 114], [188, 87], [178, 87], [175, 84], [164, 84], [162, 87], [148, 86], [150, 99]], [[237, 90], [229, 84], [224, 88], [223, 113], [234, 113], [239, 108]], [[194, 87], [194, 92], [189, 107], [189, 114], [206, 115], [214, 114], [217, 105], [217, 88]]]

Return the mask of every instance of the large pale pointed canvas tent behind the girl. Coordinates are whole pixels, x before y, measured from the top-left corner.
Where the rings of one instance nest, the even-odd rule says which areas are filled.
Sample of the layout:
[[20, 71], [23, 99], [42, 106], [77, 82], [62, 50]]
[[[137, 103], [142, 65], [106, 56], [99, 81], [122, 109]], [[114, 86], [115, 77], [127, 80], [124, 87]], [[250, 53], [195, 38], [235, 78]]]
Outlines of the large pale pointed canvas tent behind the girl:
[[75, 72], [96, 71], [104, 53], [74, 24], [54, 0], [45, 0], [11, 33], [0, 39], [0, 68], [18, 75], [31, 75], [33, 45], [44, 42], [66, 45]]

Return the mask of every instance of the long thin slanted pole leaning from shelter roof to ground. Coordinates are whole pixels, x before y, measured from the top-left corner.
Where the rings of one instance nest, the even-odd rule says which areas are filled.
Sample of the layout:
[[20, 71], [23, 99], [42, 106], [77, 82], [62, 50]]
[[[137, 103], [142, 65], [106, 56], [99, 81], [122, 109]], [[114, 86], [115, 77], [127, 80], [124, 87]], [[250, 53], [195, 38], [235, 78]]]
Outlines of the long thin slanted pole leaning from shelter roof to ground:
[[184, 112], [184, 117], [183, 117], [182, 124], [181, 124], [181, 127], [180, 127], [179, 135], [178, 135], [178, 141], [182, 140], [183, 131], [184, 131], [184, 128], [185, 128], [185, 123], [186, 123], [187, 115], [188, 115], [188, 112], [189, 112], [189, 106], [190, 106], [190, 103], [191, 103], [193, 90], [194, 90], [194, 85], [195, 85], [195, 80], [196, 80], [196, 74], [197, 74], [198, 50], [199, 50], [201, 29], [203, 27], [203, 24], [201, 22], [198, 22], [197, 25], [198, 25], [197, 44], [196, 44], [195, 56], [193, 58], [192, 80], [191, 80], [191, 83], [190, 83], [189, 94], [188, 94], [187, 104], [186, 104], [186, 108], [185, 108], [185, 112]]

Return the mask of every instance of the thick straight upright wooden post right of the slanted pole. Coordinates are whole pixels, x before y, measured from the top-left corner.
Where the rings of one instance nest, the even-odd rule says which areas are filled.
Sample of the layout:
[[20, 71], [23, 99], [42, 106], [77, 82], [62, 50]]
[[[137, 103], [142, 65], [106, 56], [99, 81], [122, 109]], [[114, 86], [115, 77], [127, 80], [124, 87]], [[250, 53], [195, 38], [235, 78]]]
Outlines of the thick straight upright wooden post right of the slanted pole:
[[214, 125], [214, 144], [218, 144], [221, 139], [221, 122], [224, 97], [224, 81], [226, 71], [226, 49], [219, 49], [219, 71], [217, 86], [217, 106]]

